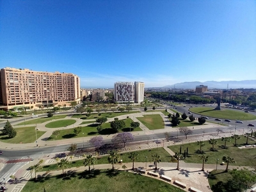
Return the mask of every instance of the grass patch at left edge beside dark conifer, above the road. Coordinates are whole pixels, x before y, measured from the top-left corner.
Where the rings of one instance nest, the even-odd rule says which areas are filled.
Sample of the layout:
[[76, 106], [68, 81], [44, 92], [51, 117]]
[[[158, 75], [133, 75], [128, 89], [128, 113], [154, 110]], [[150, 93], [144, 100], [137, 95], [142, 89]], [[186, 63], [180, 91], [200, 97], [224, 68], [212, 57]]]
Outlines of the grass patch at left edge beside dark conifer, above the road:
[[15, 128], [17, 131], [17, 135], [15, 138], [9, 138], [6, 135], [1, 134], [0, 140], [4, 143], [33, 143], [36, 141], [36, 135], [37, 138], [40, 138], [45, 131], [35, 131], [34, 127], [20, 127]]

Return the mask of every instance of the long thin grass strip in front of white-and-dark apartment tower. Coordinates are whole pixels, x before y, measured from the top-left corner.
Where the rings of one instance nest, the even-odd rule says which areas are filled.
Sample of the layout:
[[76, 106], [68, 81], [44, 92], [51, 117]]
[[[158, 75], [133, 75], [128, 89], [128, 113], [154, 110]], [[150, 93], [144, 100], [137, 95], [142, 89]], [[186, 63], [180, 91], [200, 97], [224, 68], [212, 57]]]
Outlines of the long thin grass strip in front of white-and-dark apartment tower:
[[72, 116], [72, 118], [81, 118], [81, 119], [97, 119], [99, 117], [106, 117], [106, 118], [113, 118], [116, 116], [120, 116], [120, 115], [127, 115], [129, 116], [129, 114], [131, 113], [140, 113], [140, 111], [129, 111], [129, 112], [115, 112], [115, 113], [100, 113], [101, 115], [99, 116], [97, 113], [92, 113], [91, 116], [86, 116], [85, 114], [74, 114]]

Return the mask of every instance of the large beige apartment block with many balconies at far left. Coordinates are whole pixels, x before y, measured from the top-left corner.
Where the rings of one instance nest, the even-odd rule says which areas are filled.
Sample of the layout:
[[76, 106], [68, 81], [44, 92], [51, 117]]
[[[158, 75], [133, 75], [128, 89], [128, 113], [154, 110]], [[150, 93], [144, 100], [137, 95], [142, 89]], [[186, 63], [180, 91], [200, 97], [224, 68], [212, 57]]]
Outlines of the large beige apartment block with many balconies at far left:
[[71, 73], [1, 68], [0, 108], [70, 106], [80, 100], [79, 77]]

